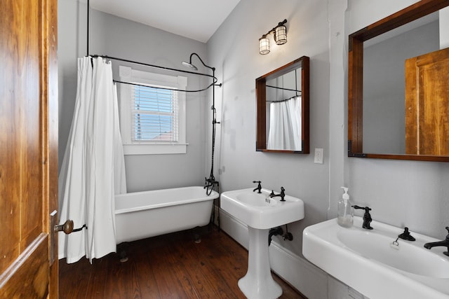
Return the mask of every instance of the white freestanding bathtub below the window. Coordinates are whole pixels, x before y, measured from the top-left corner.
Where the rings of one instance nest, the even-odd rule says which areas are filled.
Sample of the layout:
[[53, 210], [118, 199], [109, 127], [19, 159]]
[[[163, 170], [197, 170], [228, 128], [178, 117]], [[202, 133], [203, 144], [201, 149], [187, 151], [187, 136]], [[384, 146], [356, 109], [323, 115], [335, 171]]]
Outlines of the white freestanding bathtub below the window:
[[116, 244], [207, 225], [218, 197], [200, 186], [116, 195]]

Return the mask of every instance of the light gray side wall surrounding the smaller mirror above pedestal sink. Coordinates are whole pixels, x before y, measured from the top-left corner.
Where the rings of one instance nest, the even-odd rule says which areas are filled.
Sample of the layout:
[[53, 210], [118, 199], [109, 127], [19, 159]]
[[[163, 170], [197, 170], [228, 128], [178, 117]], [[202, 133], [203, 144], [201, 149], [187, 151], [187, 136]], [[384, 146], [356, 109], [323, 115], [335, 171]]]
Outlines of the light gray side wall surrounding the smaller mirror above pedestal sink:
[[[258, 39], [284, 18], [288, 42], [260, 55]], [[238, 34], [236, 34], [238, 32]], [[276, 240], [302, 254], [302, 230], [326, 220], [328, 210], [329, 49], [327, 1], [243, 0], [208, 41], [208, 57], [224, 83], [217, 95], [220, 111], [218, 177], [222, 191], [253, 186], [279, 190], [305, 203], [303, 221], [288, 225], [293, 242]], [[314, 164], [313, 154], [297, 155], [255, 151], [255, 78], [303, 55], [310, 57], [310, 144], [324, 148], [324, 163]], [[337, 194], [335, 194], [336, 199]]]

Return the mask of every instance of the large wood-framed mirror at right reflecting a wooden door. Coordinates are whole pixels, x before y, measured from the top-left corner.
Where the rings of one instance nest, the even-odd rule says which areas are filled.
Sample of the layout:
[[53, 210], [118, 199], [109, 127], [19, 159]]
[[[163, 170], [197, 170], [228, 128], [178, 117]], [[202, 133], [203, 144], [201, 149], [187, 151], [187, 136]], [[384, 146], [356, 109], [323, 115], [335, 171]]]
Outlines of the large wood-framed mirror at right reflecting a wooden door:
[[349, 157], [449, 162], [449, 50], [438, 36], [446, 6], [418, 1], [349, 35]]

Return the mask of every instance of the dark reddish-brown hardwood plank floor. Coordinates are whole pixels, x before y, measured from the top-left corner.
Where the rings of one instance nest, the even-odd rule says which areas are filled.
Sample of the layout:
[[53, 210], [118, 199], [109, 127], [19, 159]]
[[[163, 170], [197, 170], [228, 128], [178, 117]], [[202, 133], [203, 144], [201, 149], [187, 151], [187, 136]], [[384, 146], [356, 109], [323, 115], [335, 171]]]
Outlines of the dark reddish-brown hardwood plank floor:
[[[60, 260], [60, 298], [245, 298], [237, 281], [246, 274], [248, 251], [216, 229], [142, 239], [126, 244], [128, 261], [116, 253], [67, 264]], [[273, 274], [280, 298], [305, 298]]]

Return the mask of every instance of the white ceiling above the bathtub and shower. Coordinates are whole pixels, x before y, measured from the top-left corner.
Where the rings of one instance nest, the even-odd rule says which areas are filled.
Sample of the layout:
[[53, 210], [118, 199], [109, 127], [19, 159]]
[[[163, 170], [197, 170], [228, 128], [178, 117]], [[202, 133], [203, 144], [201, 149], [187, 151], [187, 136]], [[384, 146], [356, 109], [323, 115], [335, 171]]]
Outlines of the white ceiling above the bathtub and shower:
[[95, 10], [206, 43], [240, 0], [89, 1]]

